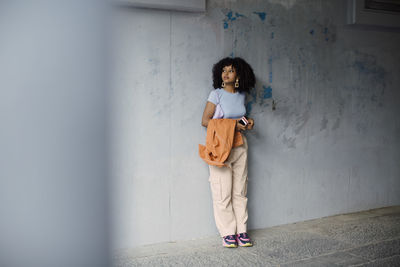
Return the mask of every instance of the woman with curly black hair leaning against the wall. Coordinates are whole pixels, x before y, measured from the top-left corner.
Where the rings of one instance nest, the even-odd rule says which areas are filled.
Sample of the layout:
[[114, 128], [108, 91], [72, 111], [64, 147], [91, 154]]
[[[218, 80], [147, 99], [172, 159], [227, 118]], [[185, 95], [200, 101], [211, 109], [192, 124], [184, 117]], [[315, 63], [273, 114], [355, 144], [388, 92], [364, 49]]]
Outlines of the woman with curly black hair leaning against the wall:
[[251, 130], [254, 120], [247, 118], [243, 126], [238, 121], [246, 115], [246, 93], [255, 86], [251, 66], [241, 58], [224, 58], [213, 66], [213, 90], [204, 109], [202, 125], [208, 126], [217, 104], [223, 118], [236, 119], [236, 131], [242, 132], [243, 145], [232, 148], [224, 167], [209, 165], [214, 217], [223, 246], [252, 246], [247, 234], [247, 140], [244, 132]]

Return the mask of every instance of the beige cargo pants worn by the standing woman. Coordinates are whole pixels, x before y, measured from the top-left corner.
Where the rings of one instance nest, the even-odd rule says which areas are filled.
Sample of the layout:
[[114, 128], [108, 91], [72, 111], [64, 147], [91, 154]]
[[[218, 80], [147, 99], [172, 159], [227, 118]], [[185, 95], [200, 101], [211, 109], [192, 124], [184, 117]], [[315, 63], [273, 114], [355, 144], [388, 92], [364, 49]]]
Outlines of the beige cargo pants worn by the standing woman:
[[226, 167], [209, 165], [214, 217], [221, 236], [247, 232], [247, 140], [231, 150]]

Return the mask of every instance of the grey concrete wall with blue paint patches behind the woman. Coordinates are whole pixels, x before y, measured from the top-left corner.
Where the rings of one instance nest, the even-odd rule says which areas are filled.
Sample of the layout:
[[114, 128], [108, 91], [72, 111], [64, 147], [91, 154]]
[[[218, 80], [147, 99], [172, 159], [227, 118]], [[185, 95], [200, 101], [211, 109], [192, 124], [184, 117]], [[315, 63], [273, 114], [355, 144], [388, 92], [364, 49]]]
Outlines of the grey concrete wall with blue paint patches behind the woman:
[[400, 33], [348, 27], [345, 8], [212, 0], [198, 14], [115, 11], [114, 248], [217, 234], [197, 145], [211, 68], [225, 56], [257, 78], [251, 229], [400, 204]]

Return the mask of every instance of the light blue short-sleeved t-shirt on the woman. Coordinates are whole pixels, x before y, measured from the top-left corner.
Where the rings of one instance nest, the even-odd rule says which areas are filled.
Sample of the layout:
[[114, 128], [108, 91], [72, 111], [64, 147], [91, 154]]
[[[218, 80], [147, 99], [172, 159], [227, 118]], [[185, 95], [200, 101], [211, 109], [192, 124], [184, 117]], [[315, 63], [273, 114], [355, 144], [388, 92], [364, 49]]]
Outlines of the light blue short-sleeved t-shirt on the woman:
[[245, 98], [246, 93], [229, 93], [218, 88], [210, 92], [207, 101], [217, 105], [219, 99], [225, 119], [240, 119], [246, 115]]

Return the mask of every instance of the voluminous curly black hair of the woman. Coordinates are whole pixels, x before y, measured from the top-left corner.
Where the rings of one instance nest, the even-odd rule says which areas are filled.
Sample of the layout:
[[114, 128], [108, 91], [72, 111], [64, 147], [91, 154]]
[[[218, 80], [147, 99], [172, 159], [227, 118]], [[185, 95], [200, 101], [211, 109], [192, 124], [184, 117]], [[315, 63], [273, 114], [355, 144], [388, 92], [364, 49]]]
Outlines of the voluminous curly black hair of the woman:
[[239, 92], [250, 92], [250, 89], [254, 88], [256, 84], [256, 77], [251, 66], [240, 57], [226, 57], [214, 64], [212, 69], [214, 88], [221, 88], [222, 69], [231, 65], [236, 70], [239, 77], [239, 88], [236, 88], [236, 90]]

